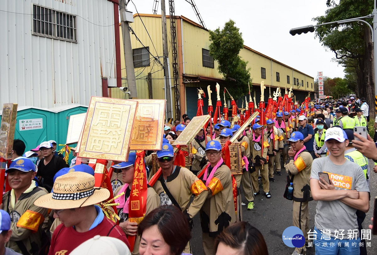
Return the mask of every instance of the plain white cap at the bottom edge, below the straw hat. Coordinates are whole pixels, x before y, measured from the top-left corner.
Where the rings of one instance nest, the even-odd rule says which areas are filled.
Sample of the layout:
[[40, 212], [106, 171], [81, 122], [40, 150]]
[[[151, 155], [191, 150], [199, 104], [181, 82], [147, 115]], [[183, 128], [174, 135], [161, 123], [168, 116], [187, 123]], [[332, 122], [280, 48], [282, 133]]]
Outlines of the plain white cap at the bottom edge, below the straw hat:
[[114, 237], [96, 235], [72, 250], [71, 255], [131, 255], [130, 249], [121, 240]]

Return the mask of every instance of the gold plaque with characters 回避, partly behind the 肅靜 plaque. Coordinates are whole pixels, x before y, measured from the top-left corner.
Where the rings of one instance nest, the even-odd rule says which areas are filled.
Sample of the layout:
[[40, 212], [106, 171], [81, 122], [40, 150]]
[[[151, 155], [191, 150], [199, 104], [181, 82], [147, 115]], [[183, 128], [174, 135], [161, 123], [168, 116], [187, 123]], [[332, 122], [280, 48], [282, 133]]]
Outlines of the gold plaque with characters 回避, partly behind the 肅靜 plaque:
[[143, 99], [138, 102], [131, 136], [131, 150], [159, 151], [164, 132], [166, 100]]

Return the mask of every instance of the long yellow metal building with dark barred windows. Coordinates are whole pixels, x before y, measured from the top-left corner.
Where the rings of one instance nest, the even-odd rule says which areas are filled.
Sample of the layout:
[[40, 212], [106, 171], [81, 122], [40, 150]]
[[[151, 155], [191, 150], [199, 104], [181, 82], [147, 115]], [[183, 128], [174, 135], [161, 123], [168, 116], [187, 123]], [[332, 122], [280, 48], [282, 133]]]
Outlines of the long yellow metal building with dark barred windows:
[[[196, 115], [197, 109], [197, 91], [202, 88], [207, 94], [207, 86], [211, 86], [212, 101], [216, 102], [216, 83], [222, 83], [222, 75], [219, 74], [217, 61], [208, 55], [210, 45], [209, 32], [198, 23], [189, 20], [184, 16], [175, 16], [176, 19], [176, 37], [178, 45], [178, 64], [179, 64], [179, 95], [180, 95], [180, 109], [181, 115], [187, 113], [189, 117]], [[161, 15], [155, 14], [140, 14], [134, 15], [135, 22], [131, 23], [135, 35], [131, 34], [131, 45], [133, 50], [133, 62], [135, 67], [135, 78], [138, 98], [153, 98], [164, 99], [164, 71], [162, 66], [156, 61], [144, 48], [147, 47], [151, 54], [160, 56], [159, 60], [163, 62], [162, 56], [162, 24]], [[146, 29], [141, 22], [141, 19], [146, 26]], [[169, 64], [170, 64], [170, 81], [173, 87], [173, 69], [172, 69], [172, 51], [171, 51], [171, 35], [170, 35], [170, 17], [166, 18], [167, 22], [167, 37], [169, 50]], [[221, 24], [219, 24], [221, 25]], [[122, 31], [121, 36], [121, 69], [122, 69], [122, 86], [127, 87], [126, 84], [126, 69], [124, 64]], [[149, 38], [150, 36], [150, 38]], [[151, 40], [152, 39], [152, 40]], [[153, 44], [152, 44], [153, 41]], [[143, 46], [144, 45], [144, 46]], [[265, 90], [265, 101], [269, 96], [269, 87], [272, 91], [276, 90], [277, 86], [280, 88], [287, 87], [293, 89], [297, 101], [303, 101], [311, 93], [314, 98], [314, 78], [304, 74], [290, 66], [287, 66], [279, 61], [274, 60], [260, 52], [257, 52], [248, 46], [241, 49], [240, 54], [242, 59], [248, 61], [247, 68], [250, 68], [251, 78], [253, 80], [252, 95], [256, 97], [259, 102], [261, 96], [260, 84], [264, 81], [267, 89]], [[149, 75], [150, 73], [150, 75]], [[284, 89], [283, 89], [284, 91]], [[119, 88], [111, 88], [109, 97], [114, 98], [128, 98], [128, 94], [124, 94]], [[174, 91], [172, 90], [172, 104], [174, 108]], [[224, 105], [223, 92], [221, 93], [222, 105]], [[243, 98], [238, 100], [239, 107], [242, 106]], [[204, 98], [203, 111], [207, 112], [208, 99]], [[229, 105], [228, 105], [229, 106]], [[169, 106], [167, 106], [169, 107]], [[175, 112], [173, 113], [175, 116]]]

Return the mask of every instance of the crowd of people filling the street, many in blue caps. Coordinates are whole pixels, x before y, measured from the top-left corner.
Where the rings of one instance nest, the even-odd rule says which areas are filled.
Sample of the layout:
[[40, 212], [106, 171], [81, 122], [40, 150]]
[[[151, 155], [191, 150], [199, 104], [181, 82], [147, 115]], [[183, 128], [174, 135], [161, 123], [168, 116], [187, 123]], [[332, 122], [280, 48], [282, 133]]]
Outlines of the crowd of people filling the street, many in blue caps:
[[[146, 206], [139, 221], [129, 214], [140, 154], [104, 163], [112, 185], [106, 189], [95, 187], [95, 171], [87, 161], [76, 155], [70, 164], [64, 160], [56, 141], [25, 152], [25, 143], [16, 139], [6, 169], [10, 188], [0, 210], [0, 255], [191, 254], [196, 215], [205, 255], [268, 254], [262, 233], [242, 219], [241, 186], [247, 209], [257, 210], [254, 198], [271, 198], [274, 174], [282, 175], [282, 170], [287, 172], [284, 197], [293, 200], [292, 225], [305, 237], [292, 254], [305, 255], [309, 247], [312, 200], [318, 201], [316, 254], [366, 254], [361, 231], [369, 210], [368, 158], [377, 162], [377, 148], [369, 135], [354, 133], [354, 127], [368, 128], [368, 121], [369, 106], [357, 97], [283, 109], [265, 123], [258, 116], [236, 137], [242, 169], [232, 174], [226, 148], [241, 126], [226, 119], [204, 126], [187, 154], [192, 165], [181, 166], [172, 143], [190, 123], [184, 115], [164, 127], [161, 150], [146, 152]], [[158, 171], [152, 170], [153, 160]], [[319, 173], [327, 173], [329, 180]], [[118, 219], [101, 206], [112, 197]], [[354, 229], [355, 242], [364, 244], [346, 245], [349, 240], [337, 235], [341, 229]], [[325, 241], [337, 245], [325, 246]]]

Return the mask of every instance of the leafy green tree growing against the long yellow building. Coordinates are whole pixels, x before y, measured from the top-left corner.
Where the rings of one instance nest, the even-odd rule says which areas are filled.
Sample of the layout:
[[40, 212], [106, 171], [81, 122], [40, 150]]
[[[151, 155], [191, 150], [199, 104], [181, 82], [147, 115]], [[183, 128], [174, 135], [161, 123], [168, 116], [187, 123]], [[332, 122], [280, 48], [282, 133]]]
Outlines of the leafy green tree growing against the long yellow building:
[[233, 98], [244, 96], [248, 93], [248, 83], [251, 80], [248, 62], [238, 55], [244, 48], [239, 28], [234, 26], [233, 20], [229, 20], [223, 29], [210, 30], [210, 41], [210, 55], [219, 63], [218, 70], [224, 77], [224, 86]]

